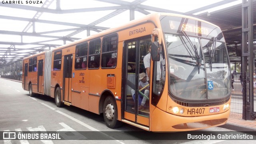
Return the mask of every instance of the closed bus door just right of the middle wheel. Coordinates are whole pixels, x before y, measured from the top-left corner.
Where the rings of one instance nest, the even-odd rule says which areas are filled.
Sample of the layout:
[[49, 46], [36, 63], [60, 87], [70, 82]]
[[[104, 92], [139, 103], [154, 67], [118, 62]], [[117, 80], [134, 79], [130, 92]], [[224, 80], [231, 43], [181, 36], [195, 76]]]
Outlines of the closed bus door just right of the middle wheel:
[[71, 102], [71, 87], [72, 87], [72, 62], [73, 55], [68, 54], [64, 56], [64, 68], [63, 68], [63, 100]]

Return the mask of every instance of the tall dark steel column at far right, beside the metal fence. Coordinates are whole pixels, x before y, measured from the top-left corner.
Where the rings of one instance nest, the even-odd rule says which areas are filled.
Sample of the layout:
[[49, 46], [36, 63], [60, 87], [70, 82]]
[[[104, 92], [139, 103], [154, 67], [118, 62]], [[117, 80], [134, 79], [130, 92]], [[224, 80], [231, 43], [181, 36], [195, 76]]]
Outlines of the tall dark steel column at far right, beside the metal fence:
[[[256, 118], [253, 95], [253, 13], [252, 0], [242, 0], [242, 73], [244, 120]], [[247, 44], [248, 42], [248, 44]], [[248, 64], [248, 65], [247, 65]]]

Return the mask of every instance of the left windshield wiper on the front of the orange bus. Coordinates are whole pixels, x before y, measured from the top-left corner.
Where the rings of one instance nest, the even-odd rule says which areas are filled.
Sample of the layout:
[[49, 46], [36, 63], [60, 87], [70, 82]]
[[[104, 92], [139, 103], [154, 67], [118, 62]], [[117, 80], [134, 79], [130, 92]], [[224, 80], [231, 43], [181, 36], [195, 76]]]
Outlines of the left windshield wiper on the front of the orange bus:
[[[188, 35], [186, 34], [186, 32], [184, 32], [183, 30], [181, 30], [180, 31], [183, 35], [184, 35], [184, 37], [188, 40], [188, 43], [190, 44], [190, 46], [191, 46], [191, 48], [192, 48], [192, 50], [194, 51], [194, 54], [196, 55], [196, 56], [194, 56], [194, 54], [192, 54], [192, 52], [191, 52], [191, 50], [190, 50], [190, 48], [186, 48], [186, 46], [188, 46], [187, 44], [186, 44], [186, 46], [185, 46], [185, 48], [187, 49], [187, 51], [188, 51], [188, 53], [190, 54], [192, 54], [192, 60], [194, 60], [194, 58], [196, 57], [196, 63], [197, 63], [197, 66], [198, 66], [198, 74], [200, 73], [200, 57], [199, 57], [199, 54], [198, 54], [198, 52], [197, 52], [197, 48], [196, 48], [196, 45], [194, 45], [193, 46], [193, 44], [192, 44], [192, 42], [191, 42], [191, 40], [190, 40], [190, 38], [188, 37]], [[185, 42], [185, 40], [181, 37], [181, 39]], [[186, 43], [186, 42], [185, 42]], [[190, 56], [191, 56], [191, 54], [190, 54]]]

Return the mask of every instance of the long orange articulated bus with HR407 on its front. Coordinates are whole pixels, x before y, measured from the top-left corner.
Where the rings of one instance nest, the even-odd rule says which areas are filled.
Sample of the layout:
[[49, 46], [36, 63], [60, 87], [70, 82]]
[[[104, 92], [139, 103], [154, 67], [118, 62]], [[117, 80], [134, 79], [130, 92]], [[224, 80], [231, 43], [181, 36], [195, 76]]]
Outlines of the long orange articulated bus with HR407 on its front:
[[230, 114], [230, 62], [214, 24], [155, 13], [24, 58], [22, 86], [154, 132], [225, 124]]

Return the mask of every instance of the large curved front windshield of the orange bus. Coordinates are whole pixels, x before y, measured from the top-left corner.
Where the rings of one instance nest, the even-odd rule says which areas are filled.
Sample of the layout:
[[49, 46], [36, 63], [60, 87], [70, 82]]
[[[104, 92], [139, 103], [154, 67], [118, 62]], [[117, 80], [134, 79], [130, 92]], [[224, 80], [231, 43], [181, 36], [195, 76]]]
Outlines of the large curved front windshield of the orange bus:
[[[191, 25], [196, 31], [184, 28], [182, 20], [179, 21], [180, 26], [176, 27], [173, 17], [172, 21], [170, 17], [163, 19], [167, 20], [161, 21], [162, 25], [166, 25], [164, 21], [170, 25], [164, 30], [170, 96], [186, 101], [217, 100], [228, 96], [231, 90], [230, 67], [220, 29], [196, 20], [183, 19], [187, 26]], [[199, 27], [204, 32], [199, 32]]]

